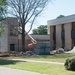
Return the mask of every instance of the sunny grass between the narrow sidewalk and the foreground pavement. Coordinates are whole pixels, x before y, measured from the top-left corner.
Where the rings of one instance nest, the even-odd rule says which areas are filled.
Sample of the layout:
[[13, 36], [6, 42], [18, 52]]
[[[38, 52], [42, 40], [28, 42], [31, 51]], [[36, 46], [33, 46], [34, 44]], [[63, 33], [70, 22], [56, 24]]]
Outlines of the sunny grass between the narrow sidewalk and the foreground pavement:
[[75, 75], [75, 72], [65, 70], [65, 67], [63, 65], [55, 64], [18, 62], [0, 59], [0, 66], [34, 71], [47, 75]]

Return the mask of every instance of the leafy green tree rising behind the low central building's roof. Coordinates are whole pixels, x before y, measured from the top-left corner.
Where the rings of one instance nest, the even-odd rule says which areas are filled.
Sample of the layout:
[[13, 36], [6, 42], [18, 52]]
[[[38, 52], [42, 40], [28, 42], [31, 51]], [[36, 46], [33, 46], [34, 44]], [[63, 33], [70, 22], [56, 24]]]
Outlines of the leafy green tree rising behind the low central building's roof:
[[47, 25], [41, 25], [37, 29], [33, 29], [32, 32], [32, 34], [47, 34]]

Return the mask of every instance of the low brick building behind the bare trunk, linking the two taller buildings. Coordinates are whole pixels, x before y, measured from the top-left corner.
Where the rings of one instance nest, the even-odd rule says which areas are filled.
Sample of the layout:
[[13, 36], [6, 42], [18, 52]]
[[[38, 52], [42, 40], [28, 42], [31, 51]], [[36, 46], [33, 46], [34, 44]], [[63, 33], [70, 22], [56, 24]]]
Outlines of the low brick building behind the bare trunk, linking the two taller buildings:
[[[32, 34], [28, 34], [25, 37], [25, 48], [27, 49], [28, 44], [31, 44], [33, 42], [50, 42], [50, 36], [49, 35], [32, 35]], [[18, 47], [19, 47], [19, 51], [22, 51], [22, 38], [21, 38], [21, 34], [19, 34], [18, 36]]]

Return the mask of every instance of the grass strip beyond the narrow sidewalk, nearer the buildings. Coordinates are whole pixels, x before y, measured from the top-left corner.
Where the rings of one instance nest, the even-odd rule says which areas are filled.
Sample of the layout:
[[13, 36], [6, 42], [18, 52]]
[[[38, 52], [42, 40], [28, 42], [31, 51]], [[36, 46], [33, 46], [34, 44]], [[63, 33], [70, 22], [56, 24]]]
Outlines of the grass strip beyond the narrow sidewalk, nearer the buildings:
[[30, 60], [43, 60], [52, 62], [65, 62], [68, 57], [75, 56], [75, 54], [54, 54], [54, 55], [36, 55], [36, 56], [21, 56], [21, 57], [10, 57], [10, 58], [21, 58]]

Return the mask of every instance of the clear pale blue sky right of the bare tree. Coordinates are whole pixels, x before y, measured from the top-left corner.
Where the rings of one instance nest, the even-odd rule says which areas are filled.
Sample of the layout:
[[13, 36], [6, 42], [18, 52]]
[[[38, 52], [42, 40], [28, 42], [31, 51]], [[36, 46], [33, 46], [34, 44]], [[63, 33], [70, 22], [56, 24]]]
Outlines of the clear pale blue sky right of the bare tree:
[[47, 25], [48, 20], [55, 19], [59, 15], [68, 16], [72, 14], [75, 14], [75, 0], [52, 0], [35, 20], [32, 30], [40, 25]]

